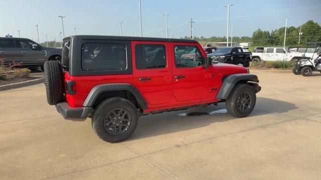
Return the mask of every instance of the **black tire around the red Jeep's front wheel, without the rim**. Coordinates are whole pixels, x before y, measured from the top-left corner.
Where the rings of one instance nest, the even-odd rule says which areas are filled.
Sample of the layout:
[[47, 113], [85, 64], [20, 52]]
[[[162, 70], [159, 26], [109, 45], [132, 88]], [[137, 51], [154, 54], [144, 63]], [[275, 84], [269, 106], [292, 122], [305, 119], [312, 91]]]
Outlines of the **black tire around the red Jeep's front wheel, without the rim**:
[[[250, 105], [250, 108], [247, 109], [246, 111], [241, 111], [237, 105], [238, 98], [243, 92], [248, 92], [251, 95], [251, 105]], [[256, 94], [253, 87], [243, 83], [236, 84], [232, 92], [229, 94], [229, 96], [225, 101], [227, 111], [235, 117], [248, 116], [254, 109], [255, 103], [256, 103]]]

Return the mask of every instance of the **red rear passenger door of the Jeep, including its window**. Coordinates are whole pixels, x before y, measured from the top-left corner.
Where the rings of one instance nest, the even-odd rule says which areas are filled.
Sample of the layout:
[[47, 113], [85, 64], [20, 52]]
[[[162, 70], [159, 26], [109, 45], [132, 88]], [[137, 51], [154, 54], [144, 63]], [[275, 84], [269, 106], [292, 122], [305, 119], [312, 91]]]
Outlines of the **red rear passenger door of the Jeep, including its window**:
[[169, 42], [131, 42], [133, 83], [149, 104], [168, 103], [171, 100], [169, 47]]

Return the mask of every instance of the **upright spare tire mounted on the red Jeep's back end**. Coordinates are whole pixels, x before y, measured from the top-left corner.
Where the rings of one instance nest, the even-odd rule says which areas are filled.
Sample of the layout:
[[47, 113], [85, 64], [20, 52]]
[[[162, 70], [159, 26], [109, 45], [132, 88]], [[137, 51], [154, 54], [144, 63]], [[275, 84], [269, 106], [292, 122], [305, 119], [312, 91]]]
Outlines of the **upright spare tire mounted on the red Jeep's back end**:
[[56, 105], [63, 101], [61, 65], [56, 60], [48, 60], [44, 63], [44, 71], [47, 101], [50, 105]]

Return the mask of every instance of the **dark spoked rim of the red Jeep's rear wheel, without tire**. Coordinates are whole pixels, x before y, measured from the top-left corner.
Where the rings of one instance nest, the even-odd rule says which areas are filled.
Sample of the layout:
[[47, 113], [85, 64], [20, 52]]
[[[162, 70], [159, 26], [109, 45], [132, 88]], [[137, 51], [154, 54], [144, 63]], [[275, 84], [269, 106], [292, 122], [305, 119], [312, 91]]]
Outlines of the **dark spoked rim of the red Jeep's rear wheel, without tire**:
[[128, 129], [130, 122], [130, 115], [126, 109], [114, 108], [106, 114], [104, 127], [111, 134], [121, 134]]

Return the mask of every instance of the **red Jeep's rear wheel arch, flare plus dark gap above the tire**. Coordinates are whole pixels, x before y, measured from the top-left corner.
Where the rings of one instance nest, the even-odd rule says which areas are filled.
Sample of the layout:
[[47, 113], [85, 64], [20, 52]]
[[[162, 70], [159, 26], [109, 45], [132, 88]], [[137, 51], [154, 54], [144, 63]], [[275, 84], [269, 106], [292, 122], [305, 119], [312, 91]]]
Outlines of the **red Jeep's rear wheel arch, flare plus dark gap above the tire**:
[[83, 106], [92, 107], [109, 97], [124, 97], [142, 109], [148, 104], [139, 91], [130, 83], [107, 83], [94, 86], [88, 93]]

